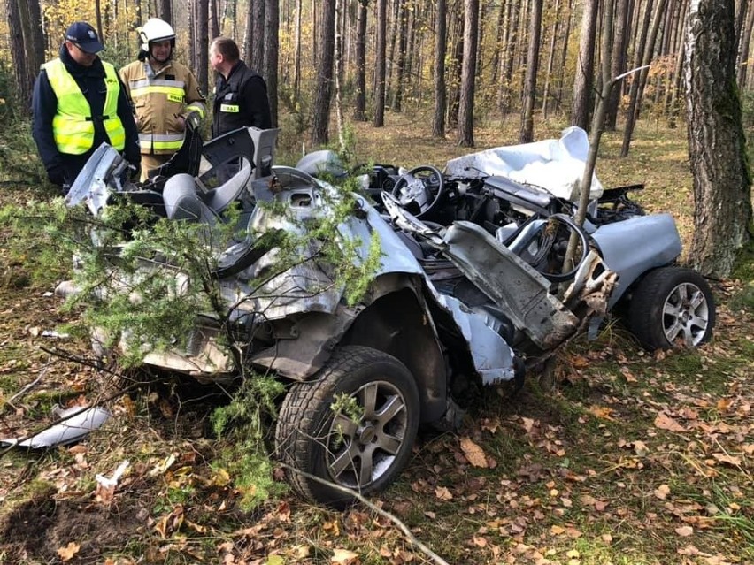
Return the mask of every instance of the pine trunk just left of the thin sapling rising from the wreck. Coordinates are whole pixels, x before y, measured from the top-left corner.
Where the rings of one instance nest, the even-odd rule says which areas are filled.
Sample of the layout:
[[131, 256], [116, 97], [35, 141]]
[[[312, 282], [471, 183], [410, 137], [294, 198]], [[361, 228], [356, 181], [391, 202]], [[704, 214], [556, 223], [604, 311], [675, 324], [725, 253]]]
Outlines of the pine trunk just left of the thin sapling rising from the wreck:
[[585, 0], [581, 16], [579, 58], [576, 61], [576, 76], [573, 82], [573, 109], [571, 124], [582, 129], [589, 128], [589, 114], [593, 100], [595, 69], [595, 42], [598, 0]]

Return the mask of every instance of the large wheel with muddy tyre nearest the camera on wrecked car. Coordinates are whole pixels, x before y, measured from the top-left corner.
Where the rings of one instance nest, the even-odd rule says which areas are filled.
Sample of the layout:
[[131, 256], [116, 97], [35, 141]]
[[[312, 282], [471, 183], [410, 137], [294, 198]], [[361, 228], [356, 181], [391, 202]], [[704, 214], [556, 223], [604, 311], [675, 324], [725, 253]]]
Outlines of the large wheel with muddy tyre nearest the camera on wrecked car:
[[282, 401], [275, 449], [289, 467], [289, 484], [335, 508], [353, 496], [312, 477], [362, 495], [380, 492], [411, 456], [419, 411], [416, 381], [404, 363], [370, 347], [335, 349], [314, 380], [294, 384]]

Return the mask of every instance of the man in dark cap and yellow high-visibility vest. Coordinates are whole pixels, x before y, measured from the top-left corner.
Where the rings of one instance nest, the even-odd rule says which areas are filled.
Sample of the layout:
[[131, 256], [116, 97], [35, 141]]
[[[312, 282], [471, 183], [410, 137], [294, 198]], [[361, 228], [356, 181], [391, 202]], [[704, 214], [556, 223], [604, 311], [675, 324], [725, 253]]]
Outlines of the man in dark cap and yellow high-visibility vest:
[[65, 32], [59, 57], [36, 78], [32, 134], [53, 184], [73, 184], [103, 142], [140, 163], [138, 134], [126, 88], [115, 68], [97, 56], [104, 50], [94, 27], [78, 21]]

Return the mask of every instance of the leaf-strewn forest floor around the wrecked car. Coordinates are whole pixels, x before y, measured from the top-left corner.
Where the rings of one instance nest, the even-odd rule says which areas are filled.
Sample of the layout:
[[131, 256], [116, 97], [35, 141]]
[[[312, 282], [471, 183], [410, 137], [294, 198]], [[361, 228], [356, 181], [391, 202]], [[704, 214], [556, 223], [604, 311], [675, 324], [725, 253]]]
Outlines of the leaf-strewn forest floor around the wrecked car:
[[[434, 141], [427, 119], [388, 115], [355, 126], [358, 159], [442, 164], [471, 149]], [[539, 125], [537, 139], [560, 127]], [[477, 148], [515, 142], [494, 127]], [[669, 211], [688, 248], [693, 193], [685, 132], [641, 123], [631, 154], [605, 134], [607, 187], [646, 183], [650, 211]], [[0, 205], [35, 187], [6, 189]], [[0, 438], [49, 421], [55, 404], [90, 403], [103, 375], [45, 350], [66, 316], [51, 291], [65, 272], [36, 272], [11, 254], [0, 225]], [[492, 389], [454, 433], [423, 432], [404, 474], [373, 500], [443, 560], [458, 564], [623, 565], [754, 562], [754, 268], [711, 281], [711, 343], [648, 354], [620, 324], [574, 341], [553, 378], [514, 397]], [[12, 399], [36, 378], [25, 395]], [[344, 512], [282, 494], [244, 513], [222, 442], [204, 433], [218, 396], [165, 387], [109, 403], [114, 417], [72, 447], [0, 452], [0, 563], [428, 563], [404, 534], [363, 506]], [[473, 442], [484, 456], [468, 457]], [[114, 489], [96, 474], [129, 467]]]

